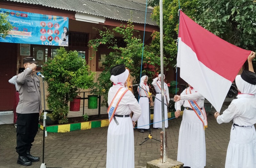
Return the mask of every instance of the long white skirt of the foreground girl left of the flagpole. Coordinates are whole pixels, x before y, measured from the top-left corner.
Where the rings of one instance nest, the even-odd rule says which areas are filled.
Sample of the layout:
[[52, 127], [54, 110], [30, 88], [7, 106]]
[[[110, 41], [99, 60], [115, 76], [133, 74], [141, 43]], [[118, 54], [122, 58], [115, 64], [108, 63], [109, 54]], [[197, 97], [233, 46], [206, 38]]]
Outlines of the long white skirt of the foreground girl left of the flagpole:
[[134, 168], [134, 134], [131, 117], [116, 117], [108, 126], [107, 168]]

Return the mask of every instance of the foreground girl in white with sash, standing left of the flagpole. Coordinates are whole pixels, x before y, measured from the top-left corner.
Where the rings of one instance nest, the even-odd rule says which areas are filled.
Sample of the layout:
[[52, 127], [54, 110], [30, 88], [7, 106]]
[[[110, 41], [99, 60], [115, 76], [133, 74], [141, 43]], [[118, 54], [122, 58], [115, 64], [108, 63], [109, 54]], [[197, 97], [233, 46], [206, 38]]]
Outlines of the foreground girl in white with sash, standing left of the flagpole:
[[[140, 117], [141, 108], [132, 94], [124, 87], [129, 71], [125, 65], [116, 65], [110, 70], [113, 86], [108, 91], [108, 139], [107, 168], [134, 168], [135, 121]], [[133, 111], [132, 118], [130, 113]]]

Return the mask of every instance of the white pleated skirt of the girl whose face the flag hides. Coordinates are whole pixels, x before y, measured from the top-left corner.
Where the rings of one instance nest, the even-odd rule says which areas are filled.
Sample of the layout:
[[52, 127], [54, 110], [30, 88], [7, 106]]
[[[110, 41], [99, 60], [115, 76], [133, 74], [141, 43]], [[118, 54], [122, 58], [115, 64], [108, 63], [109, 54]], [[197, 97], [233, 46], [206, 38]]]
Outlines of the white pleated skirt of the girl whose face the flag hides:
[[192, 110], [184, 109], [183, 112], [177, 161], [191, 168], [203, 168], [206, 165], [204, 126]]

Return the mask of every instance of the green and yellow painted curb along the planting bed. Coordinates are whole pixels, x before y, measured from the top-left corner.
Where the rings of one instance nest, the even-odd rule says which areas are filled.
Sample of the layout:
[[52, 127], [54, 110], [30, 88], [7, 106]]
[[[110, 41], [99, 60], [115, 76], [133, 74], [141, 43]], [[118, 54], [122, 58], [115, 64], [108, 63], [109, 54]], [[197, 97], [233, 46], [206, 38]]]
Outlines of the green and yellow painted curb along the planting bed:
[[[151, 114], [151, 119], [153, 120], [153, 114]], [[174, 112], [168, 112], [168, 118], [173, 118]], [[96, 120], [96, 121], [86, 121], [80, 123], [71, 123], [71, 124], [61, 124], [54, 126], [47, 126], [46, 131], [51, 133], [65, 133], [76, 130], [85, 130], [91, 128], [99, 128], [108, 126], [108, 119]], [[38, 124], [38, 127], [43, 130], [43, 125]]]

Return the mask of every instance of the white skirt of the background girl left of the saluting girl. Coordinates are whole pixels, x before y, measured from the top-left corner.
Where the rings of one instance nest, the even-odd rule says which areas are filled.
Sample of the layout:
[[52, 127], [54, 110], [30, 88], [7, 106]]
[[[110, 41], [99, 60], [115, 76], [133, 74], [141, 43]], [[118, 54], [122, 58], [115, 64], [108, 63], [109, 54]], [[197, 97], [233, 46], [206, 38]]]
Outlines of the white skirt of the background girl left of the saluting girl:
[[140, 97], [141, 115], [137, 122], [138, 129], [149, 129], [149, 101], [148, 97]]

